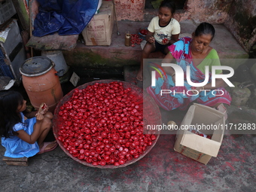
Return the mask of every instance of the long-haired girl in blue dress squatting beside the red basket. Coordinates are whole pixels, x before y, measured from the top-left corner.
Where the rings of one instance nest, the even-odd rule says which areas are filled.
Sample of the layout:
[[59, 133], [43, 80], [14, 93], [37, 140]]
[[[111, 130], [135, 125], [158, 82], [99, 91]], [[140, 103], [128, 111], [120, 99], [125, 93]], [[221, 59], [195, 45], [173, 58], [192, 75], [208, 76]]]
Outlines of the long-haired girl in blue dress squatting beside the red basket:
[[0, 91], [0, 136], [5, 157], [32, 157], [52, 151], [57, 143], [44, 142], [53, 114], [48, 107], [26, 112], [26, 100], [14, 90]]

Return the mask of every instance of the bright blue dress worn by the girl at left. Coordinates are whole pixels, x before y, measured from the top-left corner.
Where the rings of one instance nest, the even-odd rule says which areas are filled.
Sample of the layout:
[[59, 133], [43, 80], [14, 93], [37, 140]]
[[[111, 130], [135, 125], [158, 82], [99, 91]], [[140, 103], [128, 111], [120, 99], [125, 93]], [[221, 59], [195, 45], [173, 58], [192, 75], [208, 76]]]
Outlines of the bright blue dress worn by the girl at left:
[[[32, 117], [24, 120], [24, 114], [20, 112], [22, 122], [14, 125], [14, 131], [24, 130], [31, 135], [33, 133], [33, 126], [36, 122], [36, 118]], [[5, 147], [5, 157], [20, 158], [20, 157], [32, 157], [39, 152], [38, 143], [29, 144], [24, 142], [18, 136], [11, 136], [11, 138], [2, 137], [2, 145]]]

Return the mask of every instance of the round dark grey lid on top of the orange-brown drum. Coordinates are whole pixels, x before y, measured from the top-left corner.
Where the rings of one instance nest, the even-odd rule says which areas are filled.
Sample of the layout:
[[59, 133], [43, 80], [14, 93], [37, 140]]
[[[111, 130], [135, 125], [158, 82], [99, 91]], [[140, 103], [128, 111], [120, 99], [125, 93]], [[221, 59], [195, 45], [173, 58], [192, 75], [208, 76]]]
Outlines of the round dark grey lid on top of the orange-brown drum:
[[29, 77], [39, 76], [49, 72], [53, 66], [54, 62], [46, 56], [34, 56], [25, 60], [20, 67], [20, 73]]

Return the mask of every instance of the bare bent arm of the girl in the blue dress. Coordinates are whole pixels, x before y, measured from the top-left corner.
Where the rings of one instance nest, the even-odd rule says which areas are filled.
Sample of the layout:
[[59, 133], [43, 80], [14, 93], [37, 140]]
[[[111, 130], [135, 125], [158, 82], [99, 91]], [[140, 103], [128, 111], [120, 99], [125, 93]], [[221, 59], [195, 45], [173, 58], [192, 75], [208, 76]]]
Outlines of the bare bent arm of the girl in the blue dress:
[[38, 137], [41, 134], [41, 123], [42, 120], [44, 119], [44, 115], [41, 113], [38, 113], [36, 115], [36, 123], [34, 124], [34, 131], [31, 135], [26, 133], [24, 130], [19, 130], [17, 131], [18, 137], [22, 139], [24, 142], [27, 142], [29, 144], [34, 144], [37, 140]]

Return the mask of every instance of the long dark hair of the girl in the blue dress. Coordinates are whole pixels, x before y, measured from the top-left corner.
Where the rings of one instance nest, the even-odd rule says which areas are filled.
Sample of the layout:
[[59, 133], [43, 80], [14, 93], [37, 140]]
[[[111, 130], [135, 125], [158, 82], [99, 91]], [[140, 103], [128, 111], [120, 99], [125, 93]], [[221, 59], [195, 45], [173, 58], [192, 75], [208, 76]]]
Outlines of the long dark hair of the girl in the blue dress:
[[17, 109], [23, 105], [23, 96], [14, 90], [0, 91], [0, 136], [14, 136], [14, 125], [21, 122]]

